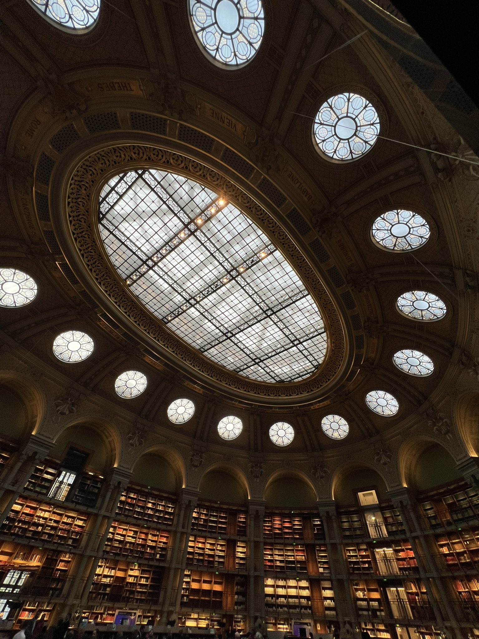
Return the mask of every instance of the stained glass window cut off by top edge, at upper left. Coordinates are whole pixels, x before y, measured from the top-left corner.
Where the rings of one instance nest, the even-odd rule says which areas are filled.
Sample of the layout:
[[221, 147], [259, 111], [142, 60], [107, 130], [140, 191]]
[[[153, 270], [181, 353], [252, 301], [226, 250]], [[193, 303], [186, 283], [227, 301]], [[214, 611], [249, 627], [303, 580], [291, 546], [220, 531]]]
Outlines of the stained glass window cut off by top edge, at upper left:
[[83, 31], [93, 27], [102, 0], [28, 0], [38, 13], [56, 27]]

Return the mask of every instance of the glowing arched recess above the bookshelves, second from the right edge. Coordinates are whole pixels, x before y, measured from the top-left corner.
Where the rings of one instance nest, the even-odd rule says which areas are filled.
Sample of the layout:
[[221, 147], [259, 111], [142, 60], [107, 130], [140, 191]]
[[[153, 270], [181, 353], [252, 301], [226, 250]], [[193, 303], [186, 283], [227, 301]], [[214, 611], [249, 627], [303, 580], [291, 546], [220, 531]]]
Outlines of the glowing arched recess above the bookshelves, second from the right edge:
[[[419, 484], [423, 484], [423, 481], [420, 480], [420, 475], [423, 474], [421, 464], [427, 461], [424, 459], [424, 454], [427, 453], [428, 450], [435, 450], [436, 456], [439, 454], [439, 461], [441, 462], [441, 470], [439, 472], [437, 472], [433, 465], [430, 466], [430, 475], [432, 477], [437, 475], [439, 481], [434, 484], [432, 480], [428, 488], [445, 483], [446, 481], [459, 479], [459, 473], [457, 477], [453, 477], [452, 470], [457, 460], [454, 459], [450, 450], [434, 438], [420, 435], [407, 440], [399, 449], [399, 473], [403, 486], [416, 489], [426, 488], [426, 486]], [[449, 461], [452, 462], [450, 466], [448, 466]], [[443, 479], [443, 481], [440, 481], [440, 479]]]

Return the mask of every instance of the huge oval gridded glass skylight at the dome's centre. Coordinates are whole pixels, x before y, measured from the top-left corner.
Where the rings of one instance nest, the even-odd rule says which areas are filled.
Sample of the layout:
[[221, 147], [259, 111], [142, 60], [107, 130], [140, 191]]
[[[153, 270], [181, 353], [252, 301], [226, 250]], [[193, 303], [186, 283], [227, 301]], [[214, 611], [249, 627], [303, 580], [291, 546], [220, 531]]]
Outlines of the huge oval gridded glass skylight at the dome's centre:
[[220, 194], [139, 169], [102, 191], [100, 232], [133, 295], [176, 335], [241, 376], [303, 380], [323, 362], [323, 318], [268, 237]]

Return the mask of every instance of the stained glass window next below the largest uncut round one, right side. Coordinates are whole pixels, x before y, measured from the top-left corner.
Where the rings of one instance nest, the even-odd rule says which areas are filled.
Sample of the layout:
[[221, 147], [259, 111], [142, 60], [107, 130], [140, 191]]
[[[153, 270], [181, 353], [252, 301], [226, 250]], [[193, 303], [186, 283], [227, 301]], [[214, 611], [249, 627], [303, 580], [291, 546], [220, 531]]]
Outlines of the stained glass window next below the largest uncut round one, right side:
[[399, 208], [379, 215], [371, 235], [381, 249], [415, 250], [429, 240], [430, 229], [418, 213]]

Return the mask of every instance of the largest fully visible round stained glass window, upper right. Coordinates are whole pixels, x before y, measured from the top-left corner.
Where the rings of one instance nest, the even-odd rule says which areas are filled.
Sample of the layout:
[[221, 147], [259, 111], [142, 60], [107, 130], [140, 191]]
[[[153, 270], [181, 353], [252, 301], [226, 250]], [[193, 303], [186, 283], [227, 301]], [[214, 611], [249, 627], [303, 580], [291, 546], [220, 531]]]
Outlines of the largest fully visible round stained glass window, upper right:
[[378, 135], [376, 109], [357, 93], [340, 93], [326, 100], [314, 119], [317, 149], [331, 160], [356, 160], [372, 148]]

